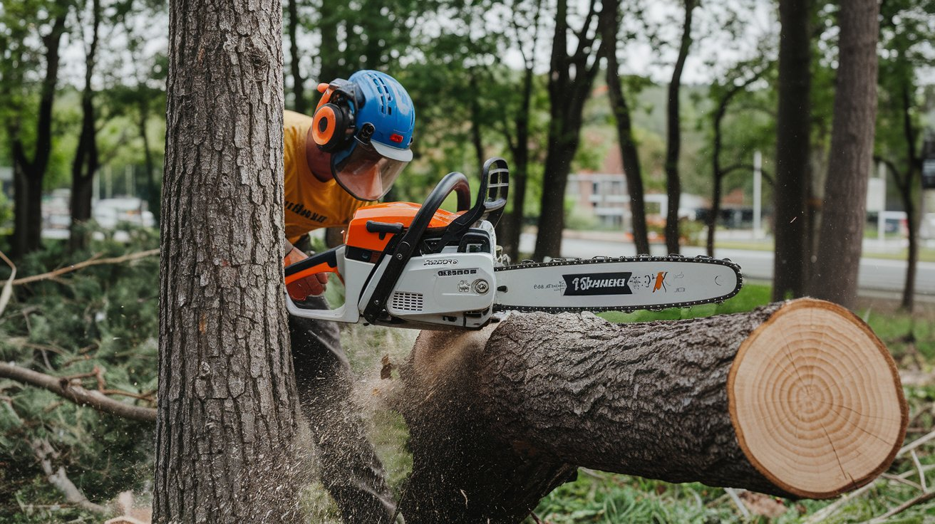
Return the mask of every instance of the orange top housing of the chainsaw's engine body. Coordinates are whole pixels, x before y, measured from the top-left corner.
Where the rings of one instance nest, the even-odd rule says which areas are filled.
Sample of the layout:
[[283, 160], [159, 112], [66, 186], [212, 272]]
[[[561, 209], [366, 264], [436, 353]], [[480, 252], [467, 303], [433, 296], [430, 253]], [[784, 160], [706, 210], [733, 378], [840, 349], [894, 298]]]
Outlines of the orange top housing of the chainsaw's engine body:
[[[412, 225], [412, 219], [415, 218], [421, 207], [422, 205], [411, 202], [389, 202], [361, 207], [354, 213], [351, 224], [348, 225], [347, 232], [344, 234], [344, 244], [352, 248], [382, 252], [386, 245], [389, 244], [391, 235], [368, 232], [367, 221], [402, 224], [404, 228], [409, 229]], [[462, 213], [464, 211], [452, 213], [439, 209], [435, 212], [432, 220], [428, 222], [428, 229], [447, 227]]]

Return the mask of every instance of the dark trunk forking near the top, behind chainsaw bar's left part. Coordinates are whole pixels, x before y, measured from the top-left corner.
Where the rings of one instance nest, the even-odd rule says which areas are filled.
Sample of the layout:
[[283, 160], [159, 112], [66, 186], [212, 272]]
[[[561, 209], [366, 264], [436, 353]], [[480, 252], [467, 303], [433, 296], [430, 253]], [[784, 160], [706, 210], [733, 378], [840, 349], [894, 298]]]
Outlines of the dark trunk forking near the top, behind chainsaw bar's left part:
[[[561, 255], [565, 229], [565, 188], [571, 160], [581, 140], [584, 102], [591, 93], [600, 61], [594, 48], [591, 25], [597, 18], [597, 0], [590, 1], [582, 27], [574, 32], [575, 51], [568, 55], [568, 0], [558, 0], [552, 59], [549, 66], [549, 137], [542, 175], [539, 232], [533, 259]], [[612, 44], [612, 42], [611, 42]]]

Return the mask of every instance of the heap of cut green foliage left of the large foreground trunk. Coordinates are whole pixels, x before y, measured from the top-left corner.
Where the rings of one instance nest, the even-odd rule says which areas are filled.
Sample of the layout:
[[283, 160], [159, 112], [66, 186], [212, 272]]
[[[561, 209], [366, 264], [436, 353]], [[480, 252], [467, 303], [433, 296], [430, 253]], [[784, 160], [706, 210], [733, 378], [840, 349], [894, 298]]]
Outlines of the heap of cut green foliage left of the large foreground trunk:
[[[94, 253], [117, 256], [157, 245], [155, 234], [138, 231], [135, 243], [94, 243]], [[18, 276], [41, 274], [91, 252], [67, 256], [64, 247], [30, 255]], [[102, 264], [17, 289], [0, 318], [0, 359], [55, 376], [77, 379], [86, 389], [119, 390], [154, 399], [158, 333], [158, 258], [132, 264]], [[132, 398], [115, 395], [124, 402]], [[0, 519], [19, 514], [21, 503], [59, 502], [36, 465], [32, 444], [46, 439], [68, 477], [93, 502], [106, 503], [126, 489], [141, 489], [151, 475], [152, 426], [79, 407], [44, 389], [0, 380]], [[148, 403], [143, 402], [144, 405]], [[152, 405], [149, 403], [148, 405]], [[43, 513], [46, 511], [47, 513]], [[74, 518], [65, 507], [21, 516], [22, 522]], [[34, 518], [35, 520], [30, 520]]]

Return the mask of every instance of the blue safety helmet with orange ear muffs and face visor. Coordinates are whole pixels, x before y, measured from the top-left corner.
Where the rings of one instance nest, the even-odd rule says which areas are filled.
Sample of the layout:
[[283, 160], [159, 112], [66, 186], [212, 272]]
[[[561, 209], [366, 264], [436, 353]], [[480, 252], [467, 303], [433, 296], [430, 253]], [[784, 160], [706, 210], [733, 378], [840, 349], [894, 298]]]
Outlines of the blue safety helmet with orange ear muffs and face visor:
[[338, 184], [359, 200], [377, 200], [412, 160], [415, 108], [406, 89], [379, 71], [319, 84], [322, 100], [312, 120], [312, 138], [331, 153]]

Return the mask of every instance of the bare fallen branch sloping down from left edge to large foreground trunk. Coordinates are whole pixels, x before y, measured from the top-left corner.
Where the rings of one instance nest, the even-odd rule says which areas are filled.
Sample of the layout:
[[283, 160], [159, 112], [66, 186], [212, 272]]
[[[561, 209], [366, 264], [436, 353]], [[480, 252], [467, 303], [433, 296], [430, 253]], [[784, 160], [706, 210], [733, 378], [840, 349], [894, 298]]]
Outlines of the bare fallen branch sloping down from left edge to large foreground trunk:
[[155, 422], [156, 410], [152, 407], [125, 404], [107, 397], [99, 391], [81, 388], [68, 383], [67, 379], [46, 375], [17, 365], [0, 363], [0, 378], [10, 378], [23, 384], [48, 389], [75, 404], [87, 405], [98, 411], [117, 417]]

